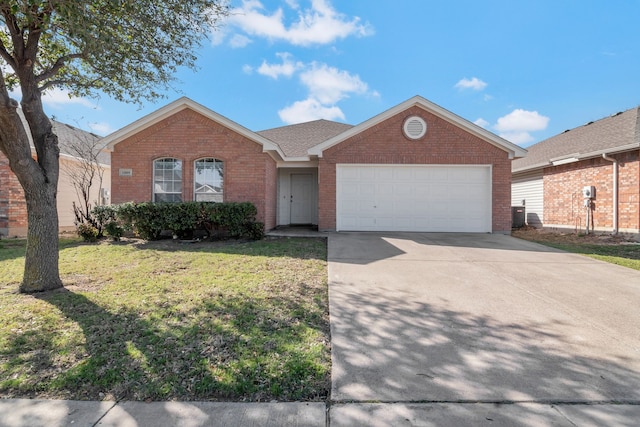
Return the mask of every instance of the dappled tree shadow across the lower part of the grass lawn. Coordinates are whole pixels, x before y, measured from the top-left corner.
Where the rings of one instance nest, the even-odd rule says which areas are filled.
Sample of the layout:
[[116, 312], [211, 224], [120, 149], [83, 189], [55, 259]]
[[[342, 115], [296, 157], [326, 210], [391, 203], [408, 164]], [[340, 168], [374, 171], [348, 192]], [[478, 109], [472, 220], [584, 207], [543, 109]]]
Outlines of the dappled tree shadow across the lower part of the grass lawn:
[[[35, 297], [79, 325], [85, 340], [86, 354], [71, 366], [53, 366], [55, 348], [40, 351], [38, 369], [53, 372], [43, 378], [45, 397], [263, 401], [323, 400], [328, 394], [328, 342], [319, 343], [324, 361], [298, 350], [309, 345], [309, 328], [328, 336], [326, 319], [307, 325], [287, 312], [267, 317], [260, 302], [242, 296], [202, 301], [186, 311], [170, 307], [167, 318], [154, 317], [153, 310], [110, 311], [64, 288]], [[293, 301], [287, 305], [291, 312], [302, 310]]]

